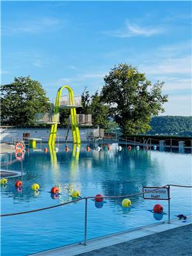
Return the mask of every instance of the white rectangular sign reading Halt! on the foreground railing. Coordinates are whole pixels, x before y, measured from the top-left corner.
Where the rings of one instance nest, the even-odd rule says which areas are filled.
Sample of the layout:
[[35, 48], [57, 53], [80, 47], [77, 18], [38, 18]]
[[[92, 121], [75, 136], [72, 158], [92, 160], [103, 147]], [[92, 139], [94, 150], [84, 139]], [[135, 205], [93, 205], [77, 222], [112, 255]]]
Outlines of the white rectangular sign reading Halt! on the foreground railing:
[[158, 187], [143, 187], [143, 198], [154, 200], [169, 200], [168, 187], [158, 189]]

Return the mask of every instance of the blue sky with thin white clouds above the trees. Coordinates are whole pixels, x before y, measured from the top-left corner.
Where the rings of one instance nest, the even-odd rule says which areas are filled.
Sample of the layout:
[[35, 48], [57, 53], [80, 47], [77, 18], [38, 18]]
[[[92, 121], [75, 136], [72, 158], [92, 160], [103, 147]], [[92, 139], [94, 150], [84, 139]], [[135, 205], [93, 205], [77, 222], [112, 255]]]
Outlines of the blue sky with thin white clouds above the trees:
[[191, 115], [191, 2], [1, 2], [1, 83], [28, 76], [47, 96], [101, 89], [120, 62], [165, 81], [163, 115]]

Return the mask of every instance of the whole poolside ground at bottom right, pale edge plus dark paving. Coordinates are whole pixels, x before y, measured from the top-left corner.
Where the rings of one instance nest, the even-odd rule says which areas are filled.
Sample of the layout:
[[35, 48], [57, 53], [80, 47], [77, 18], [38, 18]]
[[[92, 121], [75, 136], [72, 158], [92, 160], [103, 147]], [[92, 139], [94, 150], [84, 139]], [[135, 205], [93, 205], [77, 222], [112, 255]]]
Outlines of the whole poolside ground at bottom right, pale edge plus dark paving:
[[[88, 241], [86, 246], [72, 244], [34, 256], [124, 256], [124, 255], [192, 255], [192, 218], [175, 219], [170, 224], [159, 223], [129, 232], [108, 235]], [[32, 256], [32, 255], [31, 255]]]

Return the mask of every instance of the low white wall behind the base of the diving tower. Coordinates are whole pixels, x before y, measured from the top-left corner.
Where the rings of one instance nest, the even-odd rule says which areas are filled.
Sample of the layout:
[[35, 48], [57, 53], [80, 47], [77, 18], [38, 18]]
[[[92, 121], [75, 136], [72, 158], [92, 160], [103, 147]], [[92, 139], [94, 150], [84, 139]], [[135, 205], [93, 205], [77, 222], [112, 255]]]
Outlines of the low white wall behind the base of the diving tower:
[[[42, 141], [47, 142], [49, 139], [50, 129], [0, 129], [0, 141], [1, 142], [10, 142], [13, 139], [22, 139], [23, 133], [30, 133], [31, 138], [42, 139]], [[99, 137], [99, 129], [87, 128], [79, 129], [81, 141], [87, 141], [87, 137], [94, 133], [95, 136]], [[98, 135], [97, 135], [98, 134]], [[58, 128], [57, 132], [57, 141], [65, 141], [67, 135], [67, 129]], [[72, 132], [69, 130], [67, 141], [72, 141]]]

